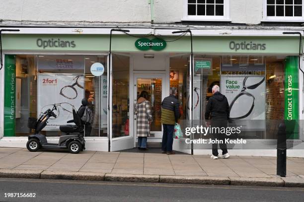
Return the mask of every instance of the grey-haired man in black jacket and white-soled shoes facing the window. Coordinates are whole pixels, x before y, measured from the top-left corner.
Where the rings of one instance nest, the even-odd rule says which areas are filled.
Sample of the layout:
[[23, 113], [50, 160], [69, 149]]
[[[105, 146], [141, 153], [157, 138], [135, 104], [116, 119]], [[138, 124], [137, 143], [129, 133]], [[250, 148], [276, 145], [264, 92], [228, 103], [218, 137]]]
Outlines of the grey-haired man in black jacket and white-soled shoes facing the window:
[[[212, 87], [212, 94], [213, 96], [209, 98], [206, 112], [205, 112], [205, 120], [208, 122], [208, 120], [211, 120], [211, 127], [212, 128], [227, 128], [227, 120], [229, 119], [229, 104], [228, 100], [225, 97], [225, 95], [222, 95], [220, 93], [220, 87], [218, 85], [214, 85]], [[209, 124], [207, 124], [208, 126]], [[218, 131], [218, 130], [217, 130]], [[220, 148], [222, 149], [222, 155], [219, 155], [218, 152], [218, 143], [212, 144], [212, 159], [218, 159], [220, 158], [229, 158], [227, 145], [225, 143], [225, 136], [226, 134], [221, 133], [215, 133], [212, 134], [213, 140], [221, 140], [223, 143], [220, 144]], [[218, 157], [219, 155], [219, 157]]]

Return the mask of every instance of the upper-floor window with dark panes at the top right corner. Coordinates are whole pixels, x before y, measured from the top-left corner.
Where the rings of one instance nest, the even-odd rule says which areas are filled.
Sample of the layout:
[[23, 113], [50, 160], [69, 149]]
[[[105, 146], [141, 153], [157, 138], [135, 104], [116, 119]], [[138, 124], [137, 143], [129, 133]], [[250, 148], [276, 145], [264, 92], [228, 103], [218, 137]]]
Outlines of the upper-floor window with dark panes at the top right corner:
[[304, 0], [264, 0], [266, 21], [303, 21]]

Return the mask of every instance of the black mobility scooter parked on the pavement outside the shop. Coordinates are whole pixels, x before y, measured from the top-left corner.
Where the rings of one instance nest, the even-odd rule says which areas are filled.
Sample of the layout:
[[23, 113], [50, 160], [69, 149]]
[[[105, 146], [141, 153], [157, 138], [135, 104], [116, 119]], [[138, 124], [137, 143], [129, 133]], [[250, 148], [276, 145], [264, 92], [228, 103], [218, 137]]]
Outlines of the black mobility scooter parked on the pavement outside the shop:
[[41, 130], [47, 125], [47, 121], [50, 117], [56, 118], [56, 114], [53, 112], [57, 110], [54, 104], [52, 110], [46, 110], [40, 118], [28, 118], [27, 126], [34, 130], [33, 135], [28, 136], [28, 141], [26, 143], [26, 148], [29, 151], [37, 151], [38, 149], [68, 149], [71, 153], [79, 153], [85, 149], [85, 140], [83, 138], [83, 123], [80, 116], [73, 109], [73, 120], [67, 123], [75, 123], [76, 125], [62, 125], [59, 127], [60, 131], [65, 135], [59, 137], [59, 142], [48, 143], [45, 135], [39, 134]]

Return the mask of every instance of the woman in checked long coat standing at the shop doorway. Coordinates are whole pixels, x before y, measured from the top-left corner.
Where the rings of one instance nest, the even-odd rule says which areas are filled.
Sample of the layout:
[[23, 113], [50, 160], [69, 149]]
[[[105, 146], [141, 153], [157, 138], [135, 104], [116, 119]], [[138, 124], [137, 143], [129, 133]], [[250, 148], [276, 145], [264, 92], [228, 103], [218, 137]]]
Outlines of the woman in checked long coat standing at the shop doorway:
[[138, 149], [147, 149], [147, 137], [150, 135], [150, 126], [152, 123], [151, 104], [148, 101], [149, 94], [147, 91], [142, 91], [137, 99], [134, 114], [137, 116], [136, 132], [138, 136]]

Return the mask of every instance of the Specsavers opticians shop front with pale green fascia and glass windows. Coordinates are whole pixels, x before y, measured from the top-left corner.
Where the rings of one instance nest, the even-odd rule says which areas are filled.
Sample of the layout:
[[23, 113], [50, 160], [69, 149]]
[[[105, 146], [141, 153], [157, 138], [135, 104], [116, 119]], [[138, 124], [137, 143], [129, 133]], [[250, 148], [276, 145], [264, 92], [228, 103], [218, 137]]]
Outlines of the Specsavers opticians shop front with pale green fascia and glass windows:
[[[42, 134], [50, 142], [58, 141], [59, 126], [72, 119], [72, 110], [85, 97], [93, 111], [93, 121], [84, 131], [86, 149], [134, 148], [134, 106], [140, 93], [147, 91], [153, 117], [148, 147], [159, 148], [161, 101], [170, 87], [178, 89], [180, 124], [185, 131], [205, 126], [205, 108], [214, 85], [228, 98], [231, 124], [243, 127], [237, 137], [253, 142], [251, 146], [262, 145], [255, 149], [231, 145], [232, 154], [273, 155], [275, 148], [263, 143], [275, 141], [278, 120], [293, 120], [289, 138], [298, 141], [298, 146], [303, 141], [298, 37], [272, 35], [271, 31], [267, 36], [250, 37], [197, 34], [191, 58], [190, 37], [174, 36], [172, 30], [148, 37], [139, 36], [147, 34], [140, 29], [132, 29], [130, 35], [115, 33], [111, 55], [109, 29], [98, 29], [102, 31], [97, 34], [39, 30], [20, 28], [19, 33], [2, 34], [0, 146], [25, 147], [31, 133], [28, 117], [37, 118], [54, 104], [57, 118], [49, 121]], [[96, 66], [103, 67], [101, 75], [93, 72]], [[209, 154], [210, 145], [186, 141], [207, 136], [184, 134], [174, 140], [173, 149]], [[295, 150], [296, 156], [299, 151]]]

